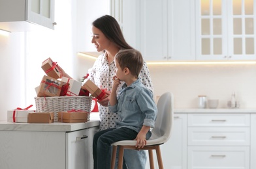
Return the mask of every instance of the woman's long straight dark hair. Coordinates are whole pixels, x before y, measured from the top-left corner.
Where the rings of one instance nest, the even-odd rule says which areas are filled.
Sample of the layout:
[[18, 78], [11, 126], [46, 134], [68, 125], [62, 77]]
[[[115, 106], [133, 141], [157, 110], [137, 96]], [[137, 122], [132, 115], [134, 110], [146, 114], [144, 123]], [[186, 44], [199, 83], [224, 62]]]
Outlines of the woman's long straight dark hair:
[[133, 49], [133, 47], [131, 47], [125, 41], [123, 33], [120, 29], [120, 25], [114, 17], [109, 15], [101, 16], [100, 18], [93, 21], [92, 25], [101, 30], [106, 38], [120, 47], [120, 49]]

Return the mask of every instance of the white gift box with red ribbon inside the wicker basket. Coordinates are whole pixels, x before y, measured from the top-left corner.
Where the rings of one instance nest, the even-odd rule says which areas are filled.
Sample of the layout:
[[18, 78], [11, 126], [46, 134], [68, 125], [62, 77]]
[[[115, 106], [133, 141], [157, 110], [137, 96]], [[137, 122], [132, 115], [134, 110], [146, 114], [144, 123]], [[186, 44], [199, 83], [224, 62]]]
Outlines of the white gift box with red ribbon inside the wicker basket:
[[61, 79], [62, 82], [64, 83], [69, 83], [69, 88], [67, 90], [67, 96], [78, 96], [82, 83], [74, 80], [74, 79], [69, 79], [67, 77], [62, 77]]

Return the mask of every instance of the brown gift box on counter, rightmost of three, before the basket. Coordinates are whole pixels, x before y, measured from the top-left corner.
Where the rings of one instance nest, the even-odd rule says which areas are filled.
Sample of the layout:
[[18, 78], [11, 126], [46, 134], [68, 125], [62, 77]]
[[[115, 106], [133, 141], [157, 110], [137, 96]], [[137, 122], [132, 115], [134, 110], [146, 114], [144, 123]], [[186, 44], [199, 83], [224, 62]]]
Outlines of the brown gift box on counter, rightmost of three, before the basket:
[[58, 121], [64, 123], [83, 123], [87, 122], [88, 112], [83, 110], [69, 110], [58, 112]]

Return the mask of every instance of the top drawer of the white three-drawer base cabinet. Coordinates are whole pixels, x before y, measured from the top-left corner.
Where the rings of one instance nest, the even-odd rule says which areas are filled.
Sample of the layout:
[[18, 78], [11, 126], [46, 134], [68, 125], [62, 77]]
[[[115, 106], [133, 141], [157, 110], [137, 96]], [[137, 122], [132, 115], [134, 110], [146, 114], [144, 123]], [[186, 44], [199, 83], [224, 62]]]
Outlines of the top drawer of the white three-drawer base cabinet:
[[250, 124], [249, 114], [188, 114], [188, 126], [214, 127], [235, 126], [246, 127]]

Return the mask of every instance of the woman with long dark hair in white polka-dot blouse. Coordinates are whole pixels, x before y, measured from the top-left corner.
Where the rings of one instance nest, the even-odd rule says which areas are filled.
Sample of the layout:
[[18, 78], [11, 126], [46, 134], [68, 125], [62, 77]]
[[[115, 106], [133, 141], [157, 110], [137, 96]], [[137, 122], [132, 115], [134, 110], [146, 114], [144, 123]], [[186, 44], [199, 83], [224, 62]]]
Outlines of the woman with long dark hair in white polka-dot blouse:
[[[93, 81], [95, 85], [100, 88], [106, 89], [106, 91], [111, 91], [113, 83], [112, 77], [115, 75], [114, 71], [116, 69], [114, 64], [115, 55], [122, 49], [133, 49], [133, 47], [125, 41], [118, 21], [109, 15], [102, 16], [93, 21], [91, 43], [95, 45], [98, 52], [104, 51], [104, 53], [97, 58], [93, 67], [89, 69], [88, 79]], [[64, 71], [63, 76], [69, 77]], [[150, 72], [146, 66], [146, 62], [144, 62], [139, 78], [141, 79], [142, 84], [153, 92]], [[122, 85], [123, 84], [120, 86]], [[106, 92], [106, 94], [110, 96], [110, 92]], [[118, 116], [108, 110], [107, 106], [109, 99], [110, 98], [108, 97], [98, 100], [100, 104], [100, 130], [116, 127], [115, 121], [118, 119]], [[124, 159], [128, 168], [145, 168], [145, 151], [125, 149]]]

